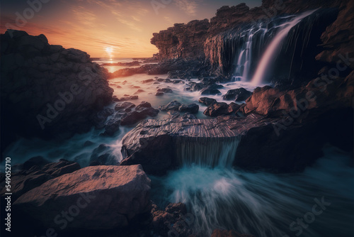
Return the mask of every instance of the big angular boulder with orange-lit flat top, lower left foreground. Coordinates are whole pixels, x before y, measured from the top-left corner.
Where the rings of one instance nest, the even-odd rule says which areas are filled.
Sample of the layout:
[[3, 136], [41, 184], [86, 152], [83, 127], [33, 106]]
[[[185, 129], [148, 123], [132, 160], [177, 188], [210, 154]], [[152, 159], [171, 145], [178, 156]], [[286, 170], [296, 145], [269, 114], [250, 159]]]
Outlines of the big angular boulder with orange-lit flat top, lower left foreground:
[[65, 231], [122, 228], [149, 211], [149, 192], [150, 180], [141, 165], [91, 166], [30, 190], [13, 209], [21, 219], [45, 228], [57, 228], [53, 220], [62, 211], [78, 216], [67, 222]]

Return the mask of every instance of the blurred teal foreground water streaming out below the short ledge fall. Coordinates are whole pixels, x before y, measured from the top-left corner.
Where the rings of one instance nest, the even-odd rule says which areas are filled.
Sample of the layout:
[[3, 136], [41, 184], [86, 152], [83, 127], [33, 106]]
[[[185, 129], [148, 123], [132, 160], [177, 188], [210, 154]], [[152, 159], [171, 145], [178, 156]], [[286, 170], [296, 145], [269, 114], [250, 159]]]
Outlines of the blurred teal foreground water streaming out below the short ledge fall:
[[[194, 216], [188, 224], [199, 236], [210, 236], [216, 228], [261, 237], [352, 236], [354, 192], [348, 187], [354, 187], [353, 160], [335, 148], [326, 148], [325, 153], [313, 167], [293, 175], [244, 172], [185, 160], [188, 164], [181, 169], [151, 177], [152, 200], [162, 208], [169, 202], [185, 203]], [[326, 206], [319, 209], [322, 199]], [[321, 211], [316, 216], [312, 214], [315, 204], [316, 211]]]

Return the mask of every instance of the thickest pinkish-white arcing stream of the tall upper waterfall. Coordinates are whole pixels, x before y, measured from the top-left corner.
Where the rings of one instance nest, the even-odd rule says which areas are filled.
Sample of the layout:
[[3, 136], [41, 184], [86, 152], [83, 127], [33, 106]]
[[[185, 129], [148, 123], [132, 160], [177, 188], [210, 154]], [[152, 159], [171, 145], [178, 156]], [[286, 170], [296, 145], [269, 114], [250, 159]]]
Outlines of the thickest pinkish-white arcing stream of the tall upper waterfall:
[[299, 16], [295, 17], [292, 19], [292, 21], [287, 22], [279, 26], [280, 31], [275, 35], [275, 38], [273, 38], [272, 42], [268, 46], [267, 50], [265, 50], [265, 53], [263, 54], [261, 61], [258, 64], [257, 70], [255, 75], [253, 75], [253, 78], [251, 82], [253, 84], [261, 84], [267, 74], [269, 73], [269, 70], [271, 69], [272, 63], [275, 61], [275, 57], [278, 55], [279, 50], [282, 47], [282, 41], [285, 39], [287, 36], [287, 33], [293, 28], [294, 26], [297, 25], [300, 21], [302, 21], [303, 18], [311, 15], [314, 13], [314, 11], [306, 11]]

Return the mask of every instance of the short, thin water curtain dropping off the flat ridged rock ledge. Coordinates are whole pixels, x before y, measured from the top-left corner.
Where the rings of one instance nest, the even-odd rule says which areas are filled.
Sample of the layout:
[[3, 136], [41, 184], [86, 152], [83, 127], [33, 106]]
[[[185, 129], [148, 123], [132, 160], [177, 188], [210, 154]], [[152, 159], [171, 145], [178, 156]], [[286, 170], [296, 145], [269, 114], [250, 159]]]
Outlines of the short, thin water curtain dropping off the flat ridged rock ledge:
[[186, 138], [176, 141], [179, 165], [201, 167], [232, 167], [239, 138]]

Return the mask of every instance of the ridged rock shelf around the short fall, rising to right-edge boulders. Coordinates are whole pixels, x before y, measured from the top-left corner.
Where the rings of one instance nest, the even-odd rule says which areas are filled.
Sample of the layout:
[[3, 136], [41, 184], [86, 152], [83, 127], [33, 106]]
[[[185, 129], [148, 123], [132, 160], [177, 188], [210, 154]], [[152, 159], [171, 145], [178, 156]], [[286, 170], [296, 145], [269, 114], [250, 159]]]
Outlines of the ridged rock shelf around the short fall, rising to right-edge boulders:
[[238, 167], [302, 170], [321, 157], [324, 143], [353, 149], [353, 76], [329, 84], [314, 79], [286, 92], [258, 88], [239, 108], [246, 116], [144, 121], [122, 139], [122, 165], [142, 164], [147, 172], [163, 173], [182, 165], [181, 147], [235, 138]]

